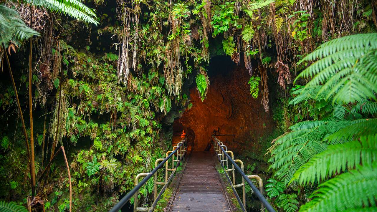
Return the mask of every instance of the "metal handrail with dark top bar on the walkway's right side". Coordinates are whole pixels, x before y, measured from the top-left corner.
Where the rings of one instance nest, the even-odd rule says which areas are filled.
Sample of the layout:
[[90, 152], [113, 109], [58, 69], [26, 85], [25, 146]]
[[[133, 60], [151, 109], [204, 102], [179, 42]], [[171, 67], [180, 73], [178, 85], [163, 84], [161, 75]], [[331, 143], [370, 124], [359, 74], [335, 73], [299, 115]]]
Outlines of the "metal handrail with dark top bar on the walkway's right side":
[[[228, 155], [228, 151], [225, 151], [224, 148], [222, 147], [222, 146], [224, 146], [224, 144], [220, 140], [218, 140], [215, 136], [213, 136], [213, 138], [214, 138], [215, 143], [217, 144], [217, 145], [214, 145], [214, 149], [216, 151], [216, 155], [219, 158], [219, 161], [221, 162], [222, 167], [224, 168], [224, 165], [223, 165], [224, 158], [220, 159], [219, 155], [221, 155], [222, 157], [224, 157], [224, 155], [225, 155], [227, 157], [227, 160], [229, 160], [231, 162], [231, 164], [233, 165], [232, 167], [234, 167], [233, 168], [233, 172], [234, 172], [234, 169], [235, 169], [235, 170], [237, 170], [242, 175], [242, 183], [238, 184], [238, 185], [234, 185], [234, 186], [238, 186], [238, 187], [242, 186], [243, 187], [242, 193], [244, 195], [244, 203], [245, 203], [245, 190], [244, 190], [245, 183], [244, 183], [244, 181], [246, 181], [249, 184], [249, 186], [251, 187], [251, 189], [253, 190], [253, 192], [255, 193], [255, 195], [261, 201], [261, 205], [264, 206], [268, 210], [268, 212], [275, 212], [275, 210], [273, 209], [273, 207], [271, 206], [271, 204], [266, 200], [266, 198], [262, 194], [263, 193], [263, 183], [261, 184], [262, 179], [259, 176], [257, 178], [257, 180], [259, 181], [259, 189], [260, 189], [260, 190], [258, 190], [257, 187], [254, 185], [254, 183], [252, 183], [251, 180], [250, 180], [250, 178], [256, 178], [255, 176], [257, 176], [257, 175], [246, 175], [245, 172], [242, 170], [243, 169], [243, 163], [242, 163], [242, 161], [241, 160], [234, 160], [234, 157], [231, 158]], [[232, 152], [231, 155], [233, 156], [233, 152]], [[242, 169], [236, 164], [236, 162], [241, 162]], [[225, 170], [225, 168], [224, 168], [224, 170]], [[228, 173], [227, 172], [225, 172], [225, 173], [226, 173], [226, 175], [228, 177], [228, 181], [231, 183], [232, 189], [233, 189], [234, 188], [233, 183], [230, 181]], [[233, 181], [234, 181], [234, 178], [233, 178]], [[233, 189], [233, 192], [234, 191], [235, 190]], [[236, 197], [238, 197], [238, 194], [236, 195]], [[239, 200], [239, 197], [238, 197], [238, 200]], [[240, 202], [240, 200], [239, 200], [239, 202]], [[240, 203], [240, 205], [242, 207], [241, 203]], [[261, 210], [263, 210], [263, 207], [262, 207]]]

